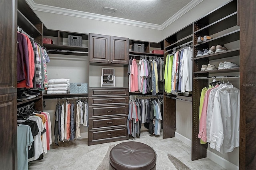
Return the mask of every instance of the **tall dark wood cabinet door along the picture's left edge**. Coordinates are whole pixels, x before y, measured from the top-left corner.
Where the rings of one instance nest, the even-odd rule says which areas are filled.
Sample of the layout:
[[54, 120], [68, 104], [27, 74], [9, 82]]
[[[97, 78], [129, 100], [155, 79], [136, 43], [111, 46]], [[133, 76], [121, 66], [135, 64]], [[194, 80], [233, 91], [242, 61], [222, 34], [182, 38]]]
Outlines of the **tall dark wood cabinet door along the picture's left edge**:
[[17, 169], [17, 1], [0, 0], [0, 169]]

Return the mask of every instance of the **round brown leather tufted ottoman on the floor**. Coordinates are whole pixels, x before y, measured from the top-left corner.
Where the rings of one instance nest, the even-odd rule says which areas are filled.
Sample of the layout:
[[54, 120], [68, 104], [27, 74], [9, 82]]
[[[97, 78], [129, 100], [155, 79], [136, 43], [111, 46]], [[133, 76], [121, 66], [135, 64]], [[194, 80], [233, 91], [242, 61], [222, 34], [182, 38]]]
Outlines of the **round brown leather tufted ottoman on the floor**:
[[112, 148], [109, 170], [156, 170], [156, 153], [140, 142], [123, 142]]

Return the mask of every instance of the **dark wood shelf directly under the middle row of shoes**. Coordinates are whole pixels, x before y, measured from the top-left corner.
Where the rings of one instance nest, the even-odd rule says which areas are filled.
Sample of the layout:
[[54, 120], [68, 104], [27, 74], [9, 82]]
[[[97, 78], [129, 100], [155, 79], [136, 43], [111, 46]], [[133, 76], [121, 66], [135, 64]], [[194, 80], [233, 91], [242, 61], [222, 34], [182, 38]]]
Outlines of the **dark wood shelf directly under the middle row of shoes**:
[[210, 60], [215, 60], [215, 59], [233, 57], [233, 56], [237, 56], [237, 55], [240, 55], [240, 48], [230, 49], [228, 51], [215, 53], [215, 54], [211, 54], [211, 55], [205, 55], [205, 56], [202, 56], [202, 57], [196, 57], [196, 58], [194, 58], [194, 60], [208, 59], [208, 61], [210, 61]]

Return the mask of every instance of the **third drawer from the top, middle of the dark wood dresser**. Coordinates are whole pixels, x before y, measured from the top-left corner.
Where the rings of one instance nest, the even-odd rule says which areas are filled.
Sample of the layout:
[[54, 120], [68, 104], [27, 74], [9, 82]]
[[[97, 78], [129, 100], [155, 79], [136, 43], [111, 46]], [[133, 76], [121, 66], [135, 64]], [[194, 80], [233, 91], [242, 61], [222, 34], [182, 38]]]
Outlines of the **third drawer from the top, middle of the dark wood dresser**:
[[89, 106], [89, 117], [106, 117], [106, 116], [118, 116], [128, 115], [129, 105], [114, 105], [114, 106]]

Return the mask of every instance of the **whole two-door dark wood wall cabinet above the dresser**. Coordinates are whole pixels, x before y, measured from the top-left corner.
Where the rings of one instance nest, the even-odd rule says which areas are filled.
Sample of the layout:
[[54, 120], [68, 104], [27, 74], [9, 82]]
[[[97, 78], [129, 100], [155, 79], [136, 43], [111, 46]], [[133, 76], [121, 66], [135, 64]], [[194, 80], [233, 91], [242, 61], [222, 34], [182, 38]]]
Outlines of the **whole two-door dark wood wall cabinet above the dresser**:
[[89, 34], [89, 61], [128, 64], [129, 38]]

